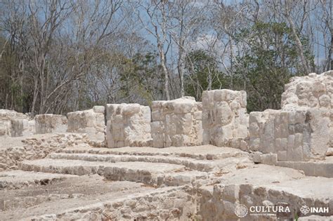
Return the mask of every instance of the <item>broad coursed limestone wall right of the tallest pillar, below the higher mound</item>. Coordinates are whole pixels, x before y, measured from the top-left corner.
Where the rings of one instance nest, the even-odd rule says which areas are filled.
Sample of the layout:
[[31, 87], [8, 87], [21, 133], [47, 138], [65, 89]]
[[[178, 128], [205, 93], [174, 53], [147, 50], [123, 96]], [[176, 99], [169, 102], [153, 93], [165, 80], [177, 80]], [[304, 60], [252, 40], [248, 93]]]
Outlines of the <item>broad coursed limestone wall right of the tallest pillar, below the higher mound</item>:
[[332, 137], [333, 112], [266, 110], [249, 117], [249, 149], [278, 154], [278, 161], [323, 159]]

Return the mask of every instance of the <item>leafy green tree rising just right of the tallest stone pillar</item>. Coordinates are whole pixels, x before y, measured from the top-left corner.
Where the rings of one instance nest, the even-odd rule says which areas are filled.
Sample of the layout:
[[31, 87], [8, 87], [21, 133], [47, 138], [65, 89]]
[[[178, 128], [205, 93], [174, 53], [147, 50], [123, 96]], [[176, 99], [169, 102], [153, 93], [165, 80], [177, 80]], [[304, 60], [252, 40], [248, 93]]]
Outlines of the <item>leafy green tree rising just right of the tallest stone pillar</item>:
[[[310, 48], [303, 39], [303, 51], [307, 62], [313, 60]], [[280, 109], [281, 94], [291, 76], [302, 75], [299, 66], [299, 48], [292, 28], [285, 23], [257, 22], [242, 29], [237, 35], [239, 41], [246, 41], [244, 55], [237, 57], [236, 67], [239, 87], [247, 84], [249, 111]]]

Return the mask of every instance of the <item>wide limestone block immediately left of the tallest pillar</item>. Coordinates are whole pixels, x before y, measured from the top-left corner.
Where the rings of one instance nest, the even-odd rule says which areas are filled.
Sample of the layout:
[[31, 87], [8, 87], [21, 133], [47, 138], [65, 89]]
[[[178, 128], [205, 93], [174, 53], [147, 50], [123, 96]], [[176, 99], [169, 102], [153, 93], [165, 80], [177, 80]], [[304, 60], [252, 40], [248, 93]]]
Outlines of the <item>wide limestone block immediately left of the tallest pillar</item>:
[[195, 98], [152, 102], [152, 146], [181, 147], [202, 144], [202, 104]]

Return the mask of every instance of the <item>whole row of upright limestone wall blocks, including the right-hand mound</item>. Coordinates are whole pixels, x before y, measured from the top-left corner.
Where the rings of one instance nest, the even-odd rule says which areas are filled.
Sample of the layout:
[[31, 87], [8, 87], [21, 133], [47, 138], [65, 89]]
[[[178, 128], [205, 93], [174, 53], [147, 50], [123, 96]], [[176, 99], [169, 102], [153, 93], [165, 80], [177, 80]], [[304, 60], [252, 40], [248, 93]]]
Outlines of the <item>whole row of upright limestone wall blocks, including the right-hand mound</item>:
[[[282, 109], [247, 114], [245, 91], [204, 91], [157, 100], [150, 107], [112, 104], [66, 116], [0, 110], [0, 136], [86, 133], [106, 147], [216, 145], [277, 154], [278, 161], [324, 159], [333, 146], [333, 72], [297, 76], [285, 86]], [[106, 141], [105, 143], [103, 141]]]

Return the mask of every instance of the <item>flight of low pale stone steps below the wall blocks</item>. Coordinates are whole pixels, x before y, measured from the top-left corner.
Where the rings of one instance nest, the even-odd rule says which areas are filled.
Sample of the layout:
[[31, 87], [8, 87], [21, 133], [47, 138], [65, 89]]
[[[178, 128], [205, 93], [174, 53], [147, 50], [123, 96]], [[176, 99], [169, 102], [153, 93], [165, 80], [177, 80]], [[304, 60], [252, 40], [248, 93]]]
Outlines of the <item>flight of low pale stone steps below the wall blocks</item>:
[[231, 148], [214, 156], [210, 156], [209, 152], [191, 154], [190, 148], [185, 152], [149, 152], [150, 148], [138, 148], [138, 152], [133, 150], [63, 149], [49, 154], [45, 159], [21, 161], [18, 168], [42, 173], [98, 174], [107, 180], [143, 182], [145, 185], [164, 187], [192, 185], [197, 180], [207, 180], [221, 170], [226, 170], [224, 173], [237, 170], [238, 164], [252, 164], [247, 153]]

